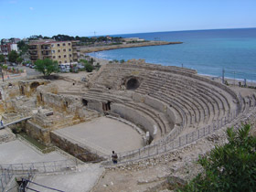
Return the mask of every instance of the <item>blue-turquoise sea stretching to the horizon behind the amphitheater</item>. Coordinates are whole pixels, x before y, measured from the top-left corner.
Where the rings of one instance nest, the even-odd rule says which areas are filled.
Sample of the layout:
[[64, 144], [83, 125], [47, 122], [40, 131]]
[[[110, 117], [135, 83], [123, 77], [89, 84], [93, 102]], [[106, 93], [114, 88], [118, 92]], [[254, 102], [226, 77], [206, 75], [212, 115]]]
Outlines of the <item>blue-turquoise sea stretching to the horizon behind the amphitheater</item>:
[[121, 48], [97, 53], [101, 59], [145, 59], [148, 63], [197, 69], [197, 73], [256, 80], [256, 28], [214, 29], [116, 35], [146, 40], [182, 41], [180, 45]]

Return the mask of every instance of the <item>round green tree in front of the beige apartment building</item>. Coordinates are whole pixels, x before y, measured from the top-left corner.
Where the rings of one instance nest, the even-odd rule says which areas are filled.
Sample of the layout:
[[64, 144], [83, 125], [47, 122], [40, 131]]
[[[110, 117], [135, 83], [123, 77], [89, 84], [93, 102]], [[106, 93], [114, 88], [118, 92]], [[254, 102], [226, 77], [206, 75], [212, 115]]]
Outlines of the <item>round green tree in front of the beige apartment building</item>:
[[38, 72], [43, 73], [44, 76], [49, 76], [53, 72], [59, 72], [59, 64], [56, 60], [53, 61], [51, 59], [38, 59], [35, 62], [35, 69]]

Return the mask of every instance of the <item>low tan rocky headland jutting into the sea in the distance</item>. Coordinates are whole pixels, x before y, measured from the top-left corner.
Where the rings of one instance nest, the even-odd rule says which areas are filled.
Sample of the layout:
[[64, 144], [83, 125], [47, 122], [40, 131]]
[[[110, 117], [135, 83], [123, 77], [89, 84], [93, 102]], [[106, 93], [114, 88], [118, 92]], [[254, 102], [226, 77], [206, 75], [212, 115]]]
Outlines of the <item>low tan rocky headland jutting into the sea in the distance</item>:
[[82, 53], [91, 53], [102, 50], [111, 50], [117, 48], [139, 48], [147, 46], [163, 46], [163, 45], [172, 45], [172, 44], [182, 44], [183, 42], [166, 42], [166, 41], [147, 41], [141, 43], [131, 43], [131, 44], [121, 44], [121, 45], [112, 45], [112, 46], [101, 46], [101, 47], [80, 47], [80, 52]]

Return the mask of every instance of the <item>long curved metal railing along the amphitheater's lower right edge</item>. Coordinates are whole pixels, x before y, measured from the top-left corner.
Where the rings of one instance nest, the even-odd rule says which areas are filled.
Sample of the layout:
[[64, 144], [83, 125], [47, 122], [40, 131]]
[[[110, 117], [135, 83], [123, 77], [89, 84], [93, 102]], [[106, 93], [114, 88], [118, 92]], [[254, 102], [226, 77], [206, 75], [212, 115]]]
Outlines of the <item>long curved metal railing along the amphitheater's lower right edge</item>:
[[[241, 98], [240, 98], [241, 100]], [[241, 102], [240, 102], [241, 103]], [[250, 106], [255, 107], [256, 101], [254, 103], [250, 102]], [[154, 155], [164, 154], [165, 152], [172, 151], [178, 149], [186, 144], [192, 144], [196, 142], [198, 139], [203, 138], [210, 133], [214, 133], [226, 124], [233, 121], [240, 114], [240, 109], [237, 109], [234, 112], [229, 112], [225, 117], [214, 121], [212, 124], [200, 128], [192, 133], [187, 133], [185, 135], [180, 135], [184, 130], [184, 126], [176, 127], [171, 133], [169, 133], [163, 140], [155, 142], [154, 144], [146, 145], [143, 148], [119, 153], [118, 155], [118, 164], [127, 163], [134, 160], [140, 160], [144, 158], [148, 158]], [[102, 162], [103, 166], [112, 165], [112, 156], [106, 155], [103, 156], [105, 159]]]

